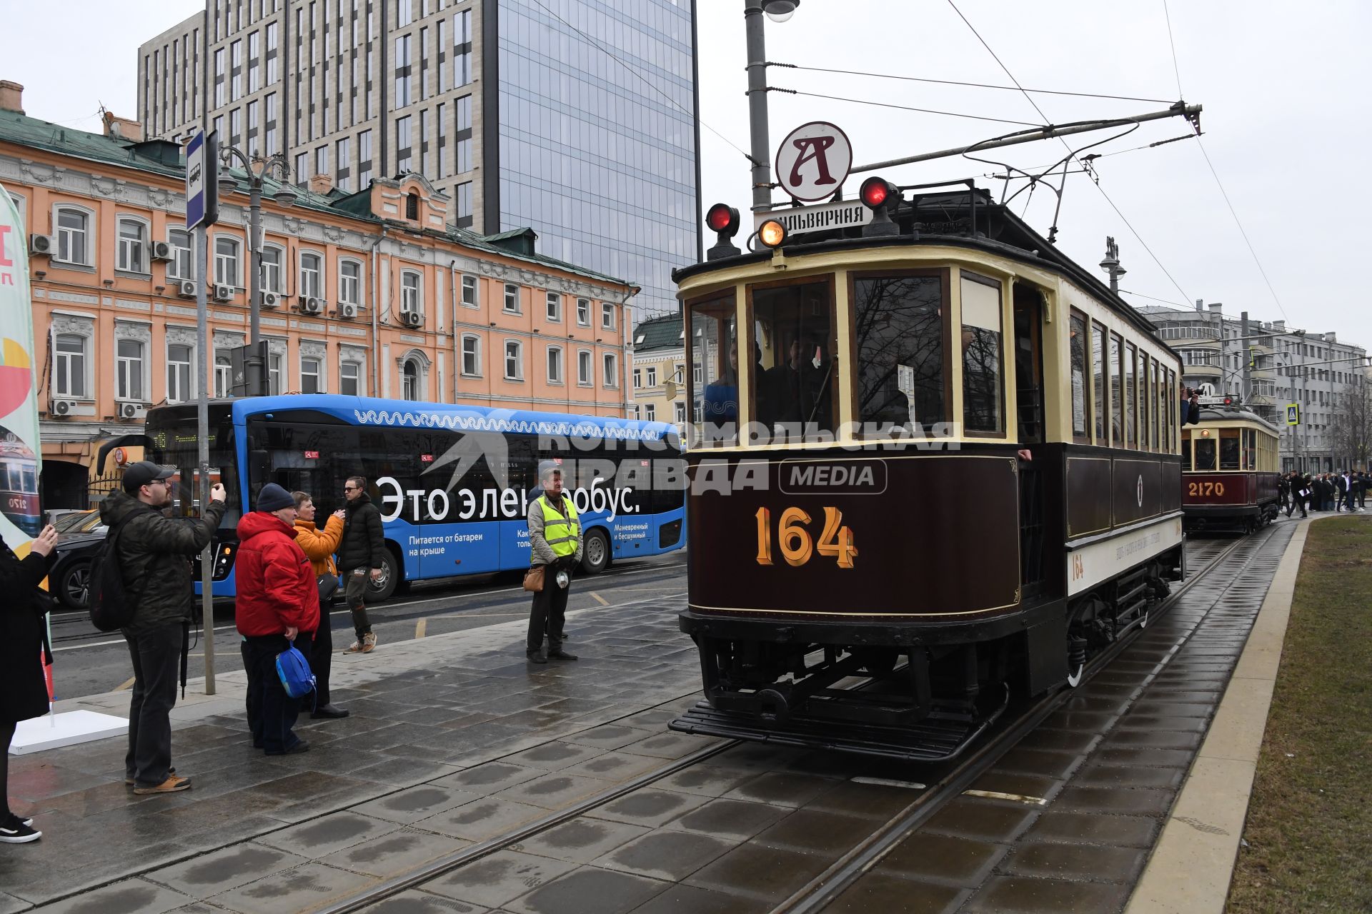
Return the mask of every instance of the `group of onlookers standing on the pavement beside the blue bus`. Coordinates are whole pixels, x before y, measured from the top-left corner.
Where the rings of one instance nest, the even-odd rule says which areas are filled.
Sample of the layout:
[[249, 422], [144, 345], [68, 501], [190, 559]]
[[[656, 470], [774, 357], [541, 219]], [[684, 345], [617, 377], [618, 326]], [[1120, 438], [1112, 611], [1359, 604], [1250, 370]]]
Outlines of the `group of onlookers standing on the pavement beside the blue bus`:
[[[133, 665], [123, 774], [125, 784], [140, 796], [191, 788], [191, 777], [178, 774], [172, 765], [170, 713], [176, 706], [178, 660], [185, 685], [195, 603], [191, 559], [210, 544], [225, 511], [225, 489], [215, 485], [199, 518], [167, 517], [174, 474], [173, 469], [147, 460], [133, 463], [125, 469], [121, 488], [100, 504], [100, 517], [108, 526], [108, 560], [117, 569], [122, 599], [132, 611], [122, 628]], [[542, 665], [549, 659], [576, 659], [563, 650], [564, 613], [583, 537], [576, 507], [563, 491], [560, 465], [543, 462], [538, 475], [542, 491], [530, 504], [528, 540], [531, 571], [536, 571], [531, 578], [536, 577], [539, 585], [525, 584], [534, 591], [527, 656], [531, 663]], [[348, 714], [332, 704], [329, 696], [333, 647], [328, 606], [340, 576], [357, 636], [344, 654], [369, 654], [376, 648], [365, 597], [368, 582], [384, 569], [381, 515], [366, 493], [365, 478], [350, 477], [343, 495], [346, 507], [331, 514], [320, 529], [310, 493], [287, 492], [268, 482], [258, 492], [254, 510], [244, 512], [237, 525], [235, 619], [247, 671], [247, 719], [252, 747], [266, 755], [294, 755], [310, 748], [294, 729], [306, 703], [316, 719]], [[0, 539], [0, 586], [10, 597], [0, 611], [3, 750], [8, 748], [18, 721], [48, 711], [43, 617], [51, 608], [51, 599], [40, 584], [48, 576], [56, 541], [56, 530], [48, 526], [19, 558]], [[292, 647], [309, 659], [314, 680], [313, 693], [303, 697], [287, 691], [279, 669]], [[0, 751], [0, 843], [38, 840], [43, 832], [33, 821], [15, 815], [7, 804], [7, 759], [8, 752]]]

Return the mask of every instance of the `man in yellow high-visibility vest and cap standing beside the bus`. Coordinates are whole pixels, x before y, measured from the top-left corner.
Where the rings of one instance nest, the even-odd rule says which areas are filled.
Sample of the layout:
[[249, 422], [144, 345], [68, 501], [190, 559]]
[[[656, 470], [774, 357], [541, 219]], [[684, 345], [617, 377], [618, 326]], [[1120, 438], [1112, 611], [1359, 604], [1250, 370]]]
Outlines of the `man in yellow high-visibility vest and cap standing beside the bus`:
[[543, 493], [528, 506], [528, 544], [530, 565], [545, 566], [543, 589], [534, 593], [525, 654], [531, 663], [547, 663], [547, 658], [575, 660], [575, 654], [563, 650], [563, 625], [572, 569], [582, 560], [582, 523], [576, 506], [563, 493], [563, 467], [543, 460], [538, 465], [538, 482]]

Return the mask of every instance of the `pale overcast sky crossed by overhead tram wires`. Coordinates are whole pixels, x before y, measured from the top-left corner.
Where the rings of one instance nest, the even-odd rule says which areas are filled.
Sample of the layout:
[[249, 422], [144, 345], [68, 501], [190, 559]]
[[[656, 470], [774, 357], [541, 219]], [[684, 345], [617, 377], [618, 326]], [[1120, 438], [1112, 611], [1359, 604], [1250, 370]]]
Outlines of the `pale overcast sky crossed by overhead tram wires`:
[[[1028, 89], [1165, 100], [1034, 95], [1052, 122], [1155, 111], [1179, 97], [1162, 0], [954, 1]], [[730, 145], [748, 148], [744, 3], [698, 0], [698, 7], [705, 125], [701, 196], [705, 206], [727, 200], [746, 211], [748, 162]], [[97, 130], [95, 112], [102, 103], [117, 114], [137, 116], [139, 42], [200, 8], [198, 0], [75, 0], [63, 7], [56, 32], [51, 11], [41, 4], [15, 7], [7, 16], [10, 40], [0, 78], [22, 82], [27, 112], [47, 121]], [[1181, 97], [1205, 106], [1205, 151], [1276, 296], [1249, 254], [1195, 140], [1096, 162], [1100, 189], [1124, 218], [1087, 175], [1072, 175], [1058, 217], [1058, 244], [1095, 269], [1104, 237], [1113, 234], [1129, 270], [1121, 286], [1137, 293], [1135, 304], [1151, 303], [1139, 296], [1176, 304], [1222, 301], [1235, 315], [1247, 310], [1253, 319], [1286, 317], [1292, 326], [1335, 330], [1343, 340], [1372, 347], [1372, 318], [1357, 292], [1358, 264], [1367, 255], [1360, 254], [1361, 233], [1350, 230], [1364, 222], [1372, 204], [1364, 174], [1372, 140], [1365, 100], [1372, 86], [1365, 49], [1372, 4], [1173, 0], [1170, 12]], [[948, 0], [803, 0], [790, 22], [768, 22], [766, 30], [767, 58], [779, 63], [1010, 85]], [[67, 63], [55, 66], [59, 56]], [[770, 85], [1041, 122], [1018, 92], [783, 69], [771, 70]], [[807, 121], [833, 121], [847, 132], [858, 162], [966, 145], [1022, 129], [782, 93], [770, 93], [770, 103], [772, 143]], [[1158, 121], [1091, 152], [1129, 149], [1185, 133], [1181, 119]], [[1080, 134], [1067, 141], [1076, 148], [1109, 136]], [[1065, 153], [1052, 140], [988, 156], [1029, 169]], [[978, 177], [982, 186], [999, 193], [1002, 182], [981, 178], [992, 170], [944, 159], [884, 174], [897, 184]], [[860, 177], [849, 181], [852, 192], [858, 181]], [[1017, 211], [1024, 201], [1025, 195], [1019, 195]], [[1055, 203], [1043, 188], [1029, 201], [1028, 219], [1040, 233], [1047, 234], [1052, 225]]]

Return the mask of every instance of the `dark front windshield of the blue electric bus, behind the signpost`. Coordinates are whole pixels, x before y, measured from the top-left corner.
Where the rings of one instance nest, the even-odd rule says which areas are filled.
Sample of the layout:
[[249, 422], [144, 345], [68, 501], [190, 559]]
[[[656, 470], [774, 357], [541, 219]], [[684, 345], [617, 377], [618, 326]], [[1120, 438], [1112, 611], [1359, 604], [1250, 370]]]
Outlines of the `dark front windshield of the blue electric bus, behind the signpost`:
[[[195, 406], [162, 407], [148, 412], [148, 458], [173, 466], [173, 517], [200, 517], [200, 454]], [[222, 482], [228, 506], [220, 525], [236, 528], [243, 517], [239, 474], [233, 455], [233, 414], [229, 404], [210, 404], [210, 485]]]

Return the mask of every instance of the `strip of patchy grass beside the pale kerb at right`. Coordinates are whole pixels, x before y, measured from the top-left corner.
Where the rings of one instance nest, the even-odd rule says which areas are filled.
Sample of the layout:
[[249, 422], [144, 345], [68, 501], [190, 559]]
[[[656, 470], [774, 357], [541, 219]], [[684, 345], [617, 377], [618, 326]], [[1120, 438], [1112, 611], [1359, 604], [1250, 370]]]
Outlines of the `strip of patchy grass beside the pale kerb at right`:
[[1225, 910], [1372, 911], [1372, 518], [1312, 523]]

